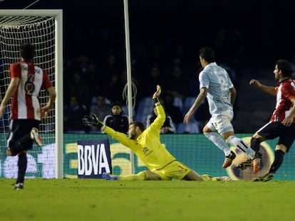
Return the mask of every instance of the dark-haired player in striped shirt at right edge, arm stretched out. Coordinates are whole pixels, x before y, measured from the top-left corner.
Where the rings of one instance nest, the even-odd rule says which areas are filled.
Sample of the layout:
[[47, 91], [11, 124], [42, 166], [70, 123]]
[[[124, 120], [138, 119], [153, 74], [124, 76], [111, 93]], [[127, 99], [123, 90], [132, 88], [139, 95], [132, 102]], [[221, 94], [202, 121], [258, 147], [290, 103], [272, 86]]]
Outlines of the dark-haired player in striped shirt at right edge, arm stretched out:
[[[279, 137], [274, 151], [274, 162], [269, 173], [254, 178], [253, 181], [269, 181], [274, 178], [274, 173], [284, 161], [284, 155], [289, 151], [295, 139], [295, 80], [291, 79], [291, 65], [286, 60], [277, 60], [274, 67], [274, 78], [279, 82], [276, 87], [262, 85], [259, 80], [252, 79], [250, 85], [259, 88], [269, 95], [276, 96], [276, 109], [271, 115], [270, 121], [262, 126], [251, 139], [251, 148], [259, 151], [259, 144], [267, 139]], [[260, 160], [260, 159], [259, 159]], [[237, 166], [244, 170], [251, 165], [251, 161], [245, 161]]]

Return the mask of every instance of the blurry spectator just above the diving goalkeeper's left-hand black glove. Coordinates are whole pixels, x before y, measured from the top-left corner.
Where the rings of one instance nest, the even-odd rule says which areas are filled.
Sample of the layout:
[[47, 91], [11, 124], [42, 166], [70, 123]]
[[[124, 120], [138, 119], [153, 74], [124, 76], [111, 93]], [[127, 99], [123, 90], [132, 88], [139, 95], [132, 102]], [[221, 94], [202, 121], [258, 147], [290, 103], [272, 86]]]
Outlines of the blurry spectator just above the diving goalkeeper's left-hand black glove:
[[[96, 114], [99, 119], [105, 119], [106, 116], [110, 115], [112, 112], [110, 111], [110, 105], [106, 102], [106, 97], [103, 95], [99, 95], [96, 99], [96, 104], [90, 107], [90, 114]], [[93, 131], [98, 130], [96, 126], [92, 126], [91, 129]]]

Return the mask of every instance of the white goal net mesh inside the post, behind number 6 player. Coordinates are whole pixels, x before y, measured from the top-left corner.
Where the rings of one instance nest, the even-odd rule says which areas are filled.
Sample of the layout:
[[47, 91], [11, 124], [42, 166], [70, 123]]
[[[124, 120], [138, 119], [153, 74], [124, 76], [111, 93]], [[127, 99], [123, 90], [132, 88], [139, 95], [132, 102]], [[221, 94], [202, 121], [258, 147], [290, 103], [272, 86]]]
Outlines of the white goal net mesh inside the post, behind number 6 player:
[[[48, 77], [56, 84], [56, 57], [55, 57], [55, 18], [51, 16], [0, 16], [0, 93], [4, 97], [10, 82], [9, 65], [19, 62], [19, 45], [31, 43], [35, 47], [35, 65], [43, 68]], [[46, 104], [47, 92], [41, 90], [39, 100], [41, 107]], [[16, 157], [6, 156], [6, 138], [9, 133], [9, 116], [11, 103], [6, 106], [6, 113], [0, 122], [1, 164], [2, 176], [16, 177]], [[43, 139], [43, 148], [34, 145], [28, 153], [27, 177], [55, 177], [54, 152], [50, 151], [55, 143], [55, 107], [42, 119], [40, 135]]]

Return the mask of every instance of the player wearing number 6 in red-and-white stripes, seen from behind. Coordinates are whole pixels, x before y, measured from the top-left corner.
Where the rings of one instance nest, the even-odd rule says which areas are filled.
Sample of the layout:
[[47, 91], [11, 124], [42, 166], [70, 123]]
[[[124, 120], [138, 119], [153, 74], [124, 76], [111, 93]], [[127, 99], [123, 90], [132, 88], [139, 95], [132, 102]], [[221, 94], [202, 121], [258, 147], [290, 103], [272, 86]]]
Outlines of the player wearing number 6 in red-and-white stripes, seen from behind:
[[[21, 45], [21, 61], [10, 65], [11, 82], [0, 105], [1, 117], [5, 113], [6, 104], [12, 97], [6, 152], [9, 156], [19, 156], [15, 190], [24, 188], [26, 151], [32, 149], [33, 141], [38, 146], [42, 145], [41, 138], [38, 136], [38, 127], [41, 117], [46, 116], [56, 98], [56, 91], [46, 71], [34, 65], [34, 54], [33, 45], [30, 43]], [[41, 108], [38, 94], [42, 88], [47, 90], [49, 98], [47, 104]]]

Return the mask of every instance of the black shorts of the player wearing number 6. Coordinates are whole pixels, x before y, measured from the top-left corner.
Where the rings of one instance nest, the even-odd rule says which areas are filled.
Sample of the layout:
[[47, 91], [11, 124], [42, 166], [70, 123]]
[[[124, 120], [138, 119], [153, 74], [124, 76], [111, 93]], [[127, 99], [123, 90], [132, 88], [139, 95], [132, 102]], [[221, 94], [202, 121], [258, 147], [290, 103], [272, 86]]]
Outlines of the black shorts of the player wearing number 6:
[[[36, 119], [11, 119], [9, 125], [9, 138], [7, 139], [7, 149], [9, 149], [13, 155], [16, 155], [24, 150], [32, 149], [33, 140], [30, 139], [31, 129], [33, 127], [38, 128], [39, 124], [40, 121]], [[19, 142], [26, 136], [28, 139], [21, 142], [21, 147], [16, 145], [16, 142]]]

